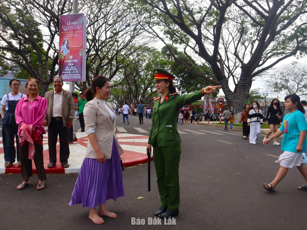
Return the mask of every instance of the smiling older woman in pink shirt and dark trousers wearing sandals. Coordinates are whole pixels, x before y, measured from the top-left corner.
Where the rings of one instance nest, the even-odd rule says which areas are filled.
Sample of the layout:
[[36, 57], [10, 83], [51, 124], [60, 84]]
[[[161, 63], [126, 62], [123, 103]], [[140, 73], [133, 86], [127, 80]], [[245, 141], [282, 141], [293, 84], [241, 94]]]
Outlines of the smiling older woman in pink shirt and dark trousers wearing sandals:
[[[23, 182], [17, 186], [17, 189], [24, 189], [30, 183], [29, 177], [32, 176], [32, 159], [34, 154], [34, 164], [38, 176], [37, 190], [41, 190], [45, 187], [44, 180], [46, 180], [41, 140], [43, 139], [43, 134], [46, 133], [43, 122], [47, 109], [47, 100], [37, 94], [39, 89], [37, 79], [29, 78], [26, 82], [26, 89], [29, 94], [18, 101], [15, 110], [18, 135], [20, 135], [20, 139], [23, 139], [23, 144], [19, 148]], [[29, 130], [29, 128], [32, 129]], [[34, 139], [33, 136], [36, 136], [36, 140], [38, 136], [39, 140], [31, 140], [31, 137]]]

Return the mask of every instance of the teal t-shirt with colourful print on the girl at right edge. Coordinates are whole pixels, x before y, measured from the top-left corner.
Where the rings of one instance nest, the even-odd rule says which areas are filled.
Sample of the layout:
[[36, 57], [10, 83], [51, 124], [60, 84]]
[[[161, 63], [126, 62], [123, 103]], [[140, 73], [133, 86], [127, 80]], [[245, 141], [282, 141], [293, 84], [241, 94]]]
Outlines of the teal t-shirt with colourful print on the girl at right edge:
[[[282, 139], [282, 150], [289, 152], [296, 152], [298, 140], [300, 139], [300, 132], [307, 130], [307, 123], [304, 114], [296, 110], [293, 113], [287, 113], [282, 120], [282, 125], [279, 128], [284, 132]], [[307, 140], [303, 143], [303, 151], [306, 151]]]

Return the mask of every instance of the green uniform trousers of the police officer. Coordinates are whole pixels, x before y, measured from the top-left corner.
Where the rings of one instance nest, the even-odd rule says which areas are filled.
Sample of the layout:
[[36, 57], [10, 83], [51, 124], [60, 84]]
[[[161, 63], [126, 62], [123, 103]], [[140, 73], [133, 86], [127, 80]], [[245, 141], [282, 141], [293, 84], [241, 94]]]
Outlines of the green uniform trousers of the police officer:
[[179, 162], [181, 145], [153, 147], [161, 207], [175, 211], [180, 203]]

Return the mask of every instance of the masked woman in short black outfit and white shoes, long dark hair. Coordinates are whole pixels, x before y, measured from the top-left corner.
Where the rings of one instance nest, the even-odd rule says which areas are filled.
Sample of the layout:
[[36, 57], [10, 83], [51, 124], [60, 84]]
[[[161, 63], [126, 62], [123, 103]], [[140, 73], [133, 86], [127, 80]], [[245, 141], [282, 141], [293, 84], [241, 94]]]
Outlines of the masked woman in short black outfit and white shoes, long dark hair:
[[[272, 100], [271, 105], [269, 106], [268, 112], [266, 114], [266, 123], [267, 122], [269, 123], [270, 131], [263, 138], [263, 141], [265, 141], [272, 132], [274, 132], [274, 134], [277, 132], [278, 125], [280, 124], [280, 120], [278, 116], [280, 115], [282, 115], [282, 110], [280, 109], [280, 103], [278, 99], [275, 98]], [[280, 143], [276, 141], [276, 138], [274, 139], [273, 144], [280, 145]]]

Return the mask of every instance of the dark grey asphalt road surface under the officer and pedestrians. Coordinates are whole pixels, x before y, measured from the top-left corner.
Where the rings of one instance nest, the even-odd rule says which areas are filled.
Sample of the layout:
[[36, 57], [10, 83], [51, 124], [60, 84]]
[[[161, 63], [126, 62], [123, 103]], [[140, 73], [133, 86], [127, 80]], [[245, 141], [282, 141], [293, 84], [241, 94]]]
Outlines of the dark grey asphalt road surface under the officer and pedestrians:
[[[116, 126], [133, 134], [139, 134], [135, 127], [149, 132], [151, 120], [139, 125], [138, 117], [129, 119], [130, 125], [122, 125], [118, 117]], [[47, 174], [46, 187], [40, 191], [36, 174], [21, 191], [16, 190], [20, 174], [0, 174], [0, 229], [306, 229], [307, 193], [297, 190], [305, 182], [296, 168], [289, 170], [275, 193], [262, 188], [278, 171], [274, 155], [282, 153], [280, 146], [260, 144], [263, 136], [252, 145], [238, 131], [201, 125], [184, 124], [178, 130], [185, 133], [180, 134], [181, 204], [176, 225], [147, 224], [160, 201], [153, 163], [147, 191], [146, 163], [125, 168], [125, 197], [107, 201], [118, 218], [104, 217], [103, 225], [88, 219], [88, 208], [68, 205], [77, 174]], [[138, 200], [140, 196], [144, 198]], [[145, 225], [131, 225], [131, 217], [145, 218]]]

